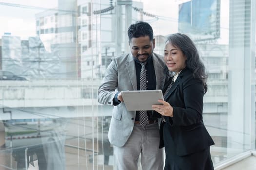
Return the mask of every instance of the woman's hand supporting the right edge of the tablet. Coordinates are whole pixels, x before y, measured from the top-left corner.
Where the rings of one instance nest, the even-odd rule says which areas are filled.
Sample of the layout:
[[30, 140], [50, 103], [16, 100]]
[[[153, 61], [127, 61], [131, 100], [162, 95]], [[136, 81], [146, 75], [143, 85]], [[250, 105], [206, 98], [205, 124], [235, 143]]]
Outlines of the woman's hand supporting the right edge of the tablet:
[[162, 103], [163, 105], [152, 105], [153, 110], [155, 110], [163, 116], [173, 117], [173, 107], [164, 100], [159, 99], [158, 102]]

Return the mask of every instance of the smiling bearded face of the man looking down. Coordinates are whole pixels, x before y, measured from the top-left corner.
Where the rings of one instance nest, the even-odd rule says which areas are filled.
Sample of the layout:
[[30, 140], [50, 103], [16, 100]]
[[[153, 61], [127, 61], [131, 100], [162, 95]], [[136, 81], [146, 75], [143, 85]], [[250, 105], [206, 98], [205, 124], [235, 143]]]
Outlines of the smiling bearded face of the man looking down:
[[153, 53], [155, 48], [155, 39], [150, 41], [149, 36], [132, 38], [129, 45], [133, 57], [138, 58], [140, 62], [145, 62]]

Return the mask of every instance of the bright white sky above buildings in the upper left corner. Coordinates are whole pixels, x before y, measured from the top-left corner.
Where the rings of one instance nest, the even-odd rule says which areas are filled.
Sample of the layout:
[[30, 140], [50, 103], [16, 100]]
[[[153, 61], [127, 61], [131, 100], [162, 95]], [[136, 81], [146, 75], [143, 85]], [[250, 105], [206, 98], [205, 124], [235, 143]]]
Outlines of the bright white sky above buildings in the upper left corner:
[[0, 36], [8, 32], [13, 36], [20, 36], [21, 39], [36, 35], [35, 14], [43, 10], [8, 6], [3, 3], [42, 8], [57, 6], [57, 0], [0, 0]]

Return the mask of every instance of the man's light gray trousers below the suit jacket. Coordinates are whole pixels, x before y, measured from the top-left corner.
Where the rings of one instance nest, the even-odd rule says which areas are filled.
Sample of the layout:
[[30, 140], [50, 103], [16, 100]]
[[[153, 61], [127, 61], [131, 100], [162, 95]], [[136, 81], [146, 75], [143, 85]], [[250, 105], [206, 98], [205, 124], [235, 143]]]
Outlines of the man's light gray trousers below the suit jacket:
[[163, 148], [159, 149], [158, 123], [146, 127], [135, 124], [125, 145], [114, 146], [117, 170], [138, 170], [139, 156], [142, 170], [163, 170]]

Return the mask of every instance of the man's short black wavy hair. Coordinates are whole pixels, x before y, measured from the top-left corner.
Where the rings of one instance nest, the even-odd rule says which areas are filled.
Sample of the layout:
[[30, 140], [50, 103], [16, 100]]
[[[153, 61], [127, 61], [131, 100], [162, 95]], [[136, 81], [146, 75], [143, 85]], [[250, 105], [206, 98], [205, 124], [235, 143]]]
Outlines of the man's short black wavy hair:
[[149, 36], [149, 39], [153, 40], [153, 29], [147, 22], [137, 21], [135, 24], [131, 24], [128, 28], [129, 42], [132, 38], [138, 38], [141, 36]]

